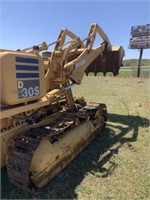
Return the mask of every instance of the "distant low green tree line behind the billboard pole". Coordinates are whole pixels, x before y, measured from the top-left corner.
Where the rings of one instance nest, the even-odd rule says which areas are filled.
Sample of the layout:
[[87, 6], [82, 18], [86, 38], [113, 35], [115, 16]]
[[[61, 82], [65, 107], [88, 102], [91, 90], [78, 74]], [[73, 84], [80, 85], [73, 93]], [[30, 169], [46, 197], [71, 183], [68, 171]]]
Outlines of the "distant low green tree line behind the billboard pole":
[[[123, 60], [123, 66], [137, 66], [139, 60], [138, 59], [128, 59], [128, 60]], [[142, 59], [141, 61], [141, 66], [150, 66], [150, 59]]]

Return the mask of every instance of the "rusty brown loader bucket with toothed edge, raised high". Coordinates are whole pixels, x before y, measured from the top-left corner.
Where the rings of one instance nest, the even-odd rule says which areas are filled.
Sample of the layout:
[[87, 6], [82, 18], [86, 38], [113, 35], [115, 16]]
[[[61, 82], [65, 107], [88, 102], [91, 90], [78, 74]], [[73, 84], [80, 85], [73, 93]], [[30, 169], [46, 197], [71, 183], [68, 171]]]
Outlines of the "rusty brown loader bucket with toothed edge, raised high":
[[103, 55], [98, 56], [85, 70], [88, 76], [89, 72], [94, 72], [96, 76], [98, 72], [102, 72], [104, 76], [107, 72], [112, 72], [114, 76], [119, 74], [119, 69], [123, 66], [124, 57], [122, 46], [112, 46], [111, 50], [104, 51]]

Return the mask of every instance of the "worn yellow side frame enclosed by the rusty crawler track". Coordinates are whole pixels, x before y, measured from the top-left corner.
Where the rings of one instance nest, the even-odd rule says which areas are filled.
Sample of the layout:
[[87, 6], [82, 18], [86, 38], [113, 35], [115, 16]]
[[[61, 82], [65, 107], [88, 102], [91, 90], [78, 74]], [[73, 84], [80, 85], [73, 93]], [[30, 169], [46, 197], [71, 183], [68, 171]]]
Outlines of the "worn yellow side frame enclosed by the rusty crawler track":
[[[40, 181], [41, 176], [48, 173], [60, 160], [71, 155], [72, 152], [74, 152], [75, 146], [79, 144], [81, 140], [86, 141], [93, 131], [93, 124], [90, 121], [86, 121], [68, 130], [63, 135], [60, 135], [58, 142], [51, 144], [48, 138], [43, 139], [34, 152], [30, 166], [30, 171], [34, 172], [31, 177], [34, 184], [37, 187], [42, 187], [43, 181]], [[75, 157], [75, 153], [73, 155], [73, 157]], [[66, 166], [66, 163], [64, 166]], [[53, 170], [49, 178], [46, 177], [46, 180], [54, 177], [64, 166], [55, 168], [56, 170]]]

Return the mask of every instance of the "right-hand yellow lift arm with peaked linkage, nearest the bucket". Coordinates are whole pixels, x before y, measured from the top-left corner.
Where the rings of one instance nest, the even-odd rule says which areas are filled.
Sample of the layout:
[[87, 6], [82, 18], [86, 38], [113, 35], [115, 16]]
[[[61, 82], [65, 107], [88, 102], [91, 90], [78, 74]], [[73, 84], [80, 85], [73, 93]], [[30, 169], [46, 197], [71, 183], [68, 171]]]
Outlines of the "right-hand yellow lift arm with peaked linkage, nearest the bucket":
[[[93, 48], [96, 34], [103, 39], [103, 42], [97, 48]], [[64, 61], [67, 59], [67, 56], [69, 57], [69, 53], [71, 54], [74, 51], [73, 45], [71, 45], [64, 52], [63, 63], [65, 63]], [[81, 84], [84, 72], [89, 64], [92, 63], [98, 56], [102, 56], [104, 51], [111, 50], [111, 46], [112, 45], [107, 35], [98, 26], [98, 24], [92, 24], [89, 29], [84, 48], [78, 48], [76, 52], [74, 51], [78, 55], [77, 58], [63, 66], [65, 76], [76, 84]]]

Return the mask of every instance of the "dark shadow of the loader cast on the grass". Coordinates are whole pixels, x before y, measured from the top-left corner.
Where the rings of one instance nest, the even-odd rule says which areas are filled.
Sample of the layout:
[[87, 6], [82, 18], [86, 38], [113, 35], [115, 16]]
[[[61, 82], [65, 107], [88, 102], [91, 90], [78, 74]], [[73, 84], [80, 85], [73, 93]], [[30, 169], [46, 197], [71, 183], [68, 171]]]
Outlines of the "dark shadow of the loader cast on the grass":
[[[38, 195], [31, 197], [11, 185], [7, 179], [6, 169], [2, 169], [1, 199], [77, 199], [75, 190], [86, 174], [100, 172], [102, 178], [109, 176], [117, 167], [117, 164], [111, 161], [111, 157], [118, 153], [124, 143], [132, 148], [132, 142], [137, 140], [139, 127], [148, 125], [148, 119], [139, 116], [109, 114], [105, 129], [98, 133], [61, 173], [42, 188]], [[114, 128], [119, 130], [118, 134], [114, 133]], [[131, 137], [127, 135], [129, 132], [132, 133]], [[104, 167], [107, 162], [109, 169]]]

